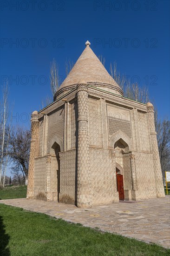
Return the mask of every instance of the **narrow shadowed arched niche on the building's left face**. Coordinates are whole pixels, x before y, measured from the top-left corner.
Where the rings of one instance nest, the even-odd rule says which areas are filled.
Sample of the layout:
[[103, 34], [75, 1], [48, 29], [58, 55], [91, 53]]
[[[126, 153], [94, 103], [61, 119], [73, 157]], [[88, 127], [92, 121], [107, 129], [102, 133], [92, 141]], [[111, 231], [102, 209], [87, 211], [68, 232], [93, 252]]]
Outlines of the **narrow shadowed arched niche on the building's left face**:
[[57, 142], [54, 142], [51, 148], [52, 165], [51, 165], [51, 192], [52, 200], [59, 202], [60, 192], [60, 160], [59, 152], [60, 146]]

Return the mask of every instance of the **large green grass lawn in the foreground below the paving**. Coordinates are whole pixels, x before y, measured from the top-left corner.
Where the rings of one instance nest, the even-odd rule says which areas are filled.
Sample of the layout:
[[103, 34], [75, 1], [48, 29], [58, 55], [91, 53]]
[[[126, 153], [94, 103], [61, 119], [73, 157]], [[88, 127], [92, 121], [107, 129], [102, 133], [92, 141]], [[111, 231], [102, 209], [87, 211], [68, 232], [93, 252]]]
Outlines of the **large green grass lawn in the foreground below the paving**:
[[170, 250], [0, 204], [2, 256], [163, 256]]

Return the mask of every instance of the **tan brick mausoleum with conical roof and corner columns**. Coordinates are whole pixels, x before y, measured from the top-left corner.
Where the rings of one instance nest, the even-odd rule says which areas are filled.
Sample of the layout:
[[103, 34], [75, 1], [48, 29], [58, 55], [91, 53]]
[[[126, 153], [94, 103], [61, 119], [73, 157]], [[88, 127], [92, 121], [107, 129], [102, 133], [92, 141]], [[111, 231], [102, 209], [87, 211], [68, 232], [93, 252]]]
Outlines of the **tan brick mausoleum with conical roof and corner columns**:
[[31, 127], [27, 198], [89, 208], [164, 197], [154, 107], [124, 98], [89, 41]]

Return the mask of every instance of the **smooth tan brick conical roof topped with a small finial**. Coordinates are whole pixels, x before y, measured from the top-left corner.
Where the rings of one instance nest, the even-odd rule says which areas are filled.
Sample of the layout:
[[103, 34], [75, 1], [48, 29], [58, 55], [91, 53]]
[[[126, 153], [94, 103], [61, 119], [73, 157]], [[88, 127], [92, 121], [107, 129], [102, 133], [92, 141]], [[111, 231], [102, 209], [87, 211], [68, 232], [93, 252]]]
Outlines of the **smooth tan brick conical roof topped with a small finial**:
[[79, 81], [86, 81], [87, 83], [109, 84], [120, 89], [118, 84], [99, 61], [96, 54], [93, 53], [92, 49], [90, 48], [90, 42], [88, 41], [86, 42], [85, 50], [76, 61], [74, 67], [67, 75], [58, 91], [62, 88], [77, 84]]

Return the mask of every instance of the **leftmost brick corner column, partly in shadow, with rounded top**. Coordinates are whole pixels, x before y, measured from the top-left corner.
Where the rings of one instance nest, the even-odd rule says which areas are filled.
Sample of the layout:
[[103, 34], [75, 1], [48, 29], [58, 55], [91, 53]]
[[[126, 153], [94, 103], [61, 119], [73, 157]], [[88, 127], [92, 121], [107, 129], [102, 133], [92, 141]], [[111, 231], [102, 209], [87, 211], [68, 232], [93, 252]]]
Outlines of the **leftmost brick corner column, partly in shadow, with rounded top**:
[[28, 186], [26, 198], [34, 196], [34, 159], [38, 156], [38, 139], [39, 139], [39, 120], [38, 112], [34, 111], [31, 115], [31, 145], [28, 168]]

